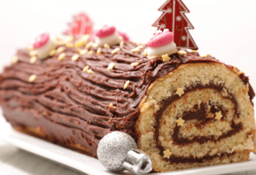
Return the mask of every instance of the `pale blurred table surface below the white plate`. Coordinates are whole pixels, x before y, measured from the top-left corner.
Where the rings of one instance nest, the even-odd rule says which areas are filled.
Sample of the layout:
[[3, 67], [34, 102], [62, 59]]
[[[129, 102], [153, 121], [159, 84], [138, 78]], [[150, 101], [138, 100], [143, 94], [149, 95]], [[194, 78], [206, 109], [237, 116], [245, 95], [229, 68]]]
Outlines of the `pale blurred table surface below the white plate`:
[[[1, 129], [0, 129], [1, 130]], [[1, 175], [85, 175], [0, 141]], [[232, 175], [255, 175], [256, 170]], [[227, 175], [227, 174], [226, 174]], [[231, 174], [228, 174], [231, 175]]]

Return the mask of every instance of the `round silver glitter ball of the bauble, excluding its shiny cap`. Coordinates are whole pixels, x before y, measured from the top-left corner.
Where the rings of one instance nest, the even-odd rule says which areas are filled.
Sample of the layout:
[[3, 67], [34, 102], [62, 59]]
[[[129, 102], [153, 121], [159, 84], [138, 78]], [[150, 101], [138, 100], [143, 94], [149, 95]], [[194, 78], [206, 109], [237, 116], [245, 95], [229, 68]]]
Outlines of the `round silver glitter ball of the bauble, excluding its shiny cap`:
[[105, 135], [98, 144], [97, 154], [100, 163], [108, 170], [122, 172], [123, 163], [127, 160], [127, 153], [137, 148], [133, 138], [127, 133], [114, 131]]

